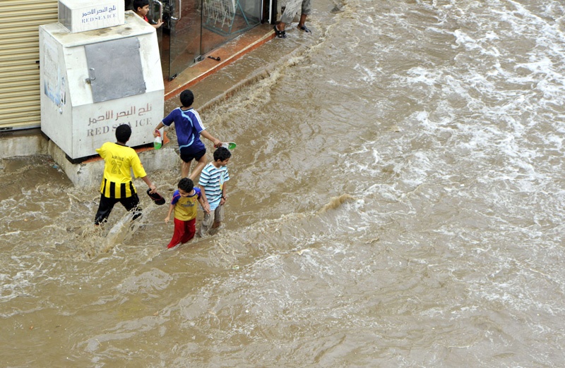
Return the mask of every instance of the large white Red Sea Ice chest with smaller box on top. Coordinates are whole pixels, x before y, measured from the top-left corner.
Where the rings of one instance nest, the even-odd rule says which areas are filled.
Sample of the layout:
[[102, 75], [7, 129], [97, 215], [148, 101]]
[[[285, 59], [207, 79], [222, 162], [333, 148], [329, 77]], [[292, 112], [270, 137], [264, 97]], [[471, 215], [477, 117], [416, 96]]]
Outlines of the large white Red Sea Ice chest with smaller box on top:
[[129, 147], [153, 142], [165, 93], [157, 35], [124, 1], [59, 1], [59, 23], [40, 27], [40, 70], [41, 130], [73, 164], [121, 124]]

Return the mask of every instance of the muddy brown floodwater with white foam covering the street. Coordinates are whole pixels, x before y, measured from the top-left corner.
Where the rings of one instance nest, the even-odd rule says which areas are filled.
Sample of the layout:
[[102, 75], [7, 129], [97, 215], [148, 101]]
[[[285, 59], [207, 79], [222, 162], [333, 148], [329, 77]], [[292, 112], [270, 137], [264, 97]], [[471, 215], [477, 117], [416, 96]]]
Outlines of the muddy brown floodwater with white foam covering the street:
[[218, 233], [167, 250], [141, 180], [95, 230], [98, 188], [0, 161], [4, 366], [563, 366], [565, 6], [335, 6], [203, 111], [237, 142]]

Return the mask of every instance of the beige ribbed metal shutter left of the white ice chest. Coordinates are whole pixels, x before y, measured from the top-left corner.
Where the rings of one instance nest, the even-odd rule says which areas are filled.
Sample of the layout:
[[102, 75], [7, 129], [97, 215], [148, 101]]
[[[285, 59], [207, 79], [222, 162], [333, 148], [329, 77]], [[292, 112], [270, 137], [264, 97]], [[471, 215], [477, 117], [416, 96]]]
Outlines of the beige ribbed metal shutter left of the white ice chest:
[[39, 26], [57, 23], [57, 4], [0, 1], [0, 131], [40, 125]]

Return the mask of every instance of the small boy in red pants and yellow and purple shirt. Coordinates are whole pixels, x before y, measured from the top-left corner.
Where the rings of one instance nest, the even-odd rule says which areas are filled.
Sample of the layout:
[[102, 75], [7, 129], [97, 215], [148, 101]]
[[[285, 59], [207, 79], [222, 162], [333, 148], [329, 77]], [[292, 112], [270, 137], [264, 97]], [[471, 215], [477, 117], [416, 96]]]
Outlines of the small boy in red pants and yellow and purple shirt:
[[194, 183], [189, 178], [179, 181], [179, 189], [172, 195], [169, 213], [165, 217], [165, 223], [169, 223], [174, 210], [174, 233], [167, 248], [172, 248], [180, 243], [184, 244], [194, 238], [196, 233], [196, 202], [199, 202], [206, 213], [210, 213], [208, 202], [204, 202], [202, 192], [194, 188]]

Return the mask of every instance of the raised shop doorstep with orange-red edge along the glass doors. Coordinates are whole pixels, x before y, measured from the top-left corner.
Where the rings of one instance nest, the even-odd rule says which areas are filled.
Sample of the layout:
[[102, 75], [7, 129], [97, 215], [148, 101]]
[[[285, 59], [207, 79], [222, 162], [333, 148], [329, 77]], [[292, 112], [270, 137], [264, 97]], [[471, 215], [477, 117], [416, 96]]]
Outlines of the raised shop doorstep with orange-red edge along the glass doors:
[[261, 24], [202, 55], [202, 61], [184, 69], [176, 78], [165, 80], [165, 101], [193, 87], [208, 75], [230, 65], [274, 37], [273, 26], [268, 23]]

